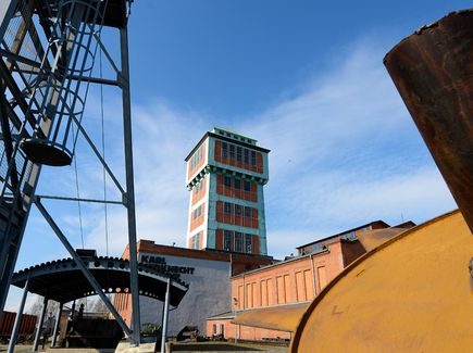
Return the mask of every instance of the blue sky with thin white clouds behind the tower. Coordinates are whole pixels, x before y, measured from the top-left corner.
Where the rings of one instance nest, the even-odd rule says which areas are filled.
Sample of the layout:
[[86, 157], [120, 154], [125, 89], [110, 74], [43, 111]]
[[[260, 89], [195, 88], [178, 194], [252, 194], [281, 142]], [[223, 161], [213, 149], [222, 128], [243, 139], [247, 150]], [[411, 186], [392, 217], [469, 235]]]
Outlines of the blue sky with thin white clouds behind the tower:
[[[137, 0], [129, 52], [138, 238], [185, 244], [184, 159], [214, 126], [272, 150], [265, 204], [275, 257], [371, 220], [421, 223], [455, 209], [383, 58], [423, 24], [470, 5]], [[105, 87], [104, 102], [107, 160], [123, 180], [120, 91]], [[100, 146], [97, 87], [85, 126]], [[102, 169], [83, 140], [77, 165], [80, 196], [100, 198]], [[107, 192], [119, 198], [110, 179]], [[74, 168], [45, 167], [38, 193], [76, 196]], [[80, 247], [77, 204], [43, 203]], [[103, 206], [80, 211], [85, 247], [104, 254]], [[109, 206], [108, 229], [109, 254], [121, 255], [126, 222], [120, 206]], [[17, 269], [66, 255], [33, 210]], [[8, 308], [15, 308], [16, 295], [12, 290]]]

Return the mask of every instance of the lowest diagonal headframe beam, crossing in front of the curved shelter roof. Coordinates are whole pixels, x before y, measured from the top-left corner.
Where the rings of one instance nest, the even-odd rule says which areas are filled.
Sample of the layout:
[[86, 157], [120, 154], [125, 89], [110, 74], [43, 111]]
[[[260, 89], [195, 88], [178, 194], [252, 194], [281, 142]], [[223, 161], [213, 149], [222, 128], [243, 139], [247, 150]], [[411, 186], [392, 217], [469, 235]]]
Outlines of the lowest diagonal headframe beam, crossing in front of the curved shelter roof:
[[52, 219], [51, 215], [48, 213], [48, 211], [45, 209], [45, 206], [41, 204], [39, 199], [35, 199], [36, 206], [38, 207], [41, 215], [45, 217], [46, 222], [51, 226], [52, 230], [54, 230], [55, 235], [58, 236], [59, 240], [62, 242], [64, 248], [69, 251], [72, 259], [74, 259], [75, 263], [77, 264], [78, 268], [82, 270], [84, 276], [89, 281], [90, 286], [92, 286], [94, 290], [97, 292], [97, 294], [100, 297], [100, 299], [103, 301], [103, 303], [107, 305], [109, 311], [112, 313], [113, 317], [116, 319], [119, 325], [122, 327], [122, 329], [125, 331], [127, 336], [132, 336], [132, 330], [128, 328], [122, 316], [116, 311], [115, 306], [113, 306], [112, 302], [109, 300], [109, 298], [103, 292], [100, 285], [95, 279], [94, 275], [89, 272], [87, 266], [84, 264], [83, 260], [77, 255], [74, 248], [69, 242], [67, 238], [64, 236], [64, 234], [61, 231], [59, 226], [54, 223], [54, 219]]

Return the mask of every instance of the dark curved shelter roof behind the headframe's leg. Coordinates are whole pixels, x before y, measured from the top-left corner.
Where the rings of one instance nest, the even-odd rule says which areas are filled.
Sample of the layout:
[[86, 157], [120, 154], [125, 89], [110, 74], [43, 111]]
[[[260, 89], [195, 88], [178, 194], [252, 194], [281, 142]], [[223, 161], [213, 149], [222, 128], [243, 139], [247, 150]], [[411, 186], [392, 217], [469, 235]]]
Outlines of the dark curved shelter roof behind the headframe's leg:
[[[119, 257], [83, 259], [86, 267], [107, 293], [129, 291], [129, 261]], [[78, 298], [96, 295], [82, 270], [73, 259], [42, 263], [13, 274], [12, 285], [23, 288], [29, 277], [28, 291], [48, 299], [66, 303]], [[163, 301], [166, 292], [167, 274], [138, 264], [138, 287], [140, 295]], [[172, 278], [170, 303], [177, 306], [187, 292], [188, 286], [178, 278]]]

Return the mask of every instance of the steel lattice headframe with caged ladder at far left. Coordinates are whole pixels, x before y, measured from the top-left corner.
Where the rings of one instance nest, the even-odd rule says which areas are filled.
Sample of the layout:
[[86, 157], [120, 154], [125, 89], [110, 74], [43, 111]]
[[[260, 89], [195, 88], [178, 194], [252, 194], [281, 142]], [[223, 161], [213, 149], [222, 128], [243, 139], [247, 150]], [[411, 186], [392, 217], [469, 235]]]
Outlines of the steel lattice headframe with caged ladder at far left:
[[[129, 91], [129, 63], [128, 63], [128, 36], [126, 21], [119, 28], [121, 67], [113, 62], [107, 51], [105, 46], [98, 35], [95, 25], [103, 23], [105, 11], [100, 10], [107, 3], [102, 0], [60, 0], [57, 2], [33, 1], [33, 0], [2, 0], [0, 3], [0, 42], [1, 54], [4, 59], [0, 60], [0, 121], [2, 128], [3, 151], [0, 157], [0, 211], [5, 214], [1, 223], [4, 223], [4, 230], [0, 232], [0, 315], [3, 311], [8, 289], [11, 283], [12, 274], [16, 264], [20, 247], [26, 227], [29, 210], [35, 200], [36, 186], [39, 180], [41, 164], [33, 157], [28, 159], [28, 153], [23, 152], [21, 142], [30, 139], [40, 140], [43, 144], [57, 148], [57, 138], [63, 134], [64, 142], [74, 141], [75, 136], [71, 136], [71, 126], [76, 125], [76, 131], [80, 131], [86, 141], [91, 147], [104, 169], [109, 173], [120, 192], [122, 193], [122, 204], [127, 210], [128, 220], [128, 243], [129, 243], [129, 264], [130, 264], [130, 294], [132, 294], [132, 329], [124, 328], [129, 335], [132, 343], [140, 343], [140, 314], [139, 314], [139, 289], [138, 289], [138, 266], [136, 247], [136, 216], [135, 216], [135, 190], [134, 190], [134, 169], [133, 169], [133, 148], [132, 148], [132, 110]], [[130, 1], [124, 0], [124, 4], [130, 5]], [[64, 7], [58, 11], [54, 5]], [[94, 7], [92, 7], [94, 5]], [[36, 9], [34, 9], [36, 7]], [[76, 9], [77, 11], [73, 11]], [[33, 11], [36, 10], [36, 11]], [[103, 12], [101, 12], [103, 11]], [[129, 12], [129, 11], [128, 11]], [[34, 22], [33, 15], [38, 14], [38, 22]], [[62, 18], [69, 15], [70, 18]], [[11, 25], [21, 18], [20, 26]], [[92, 18], [94, 23], [90, 23]], [[62, 22], [62, 23], [61, 23]], [[70, 25], [67, 25], [67, 23]], [[10, 28], [11, 26], [12, 28]], [[16, 26], [16, 27], [15, 27]], [[37, 28], [38, 27], [38, 28]], [[10, 31], [15, 34], [12, 41], [4, 40]], [[45, 50], [41, 45], [42, 30], [46, 38], [50, 38]], [[80, 35], [82, 31], [82, 35]], [[34, 54], [27, 58], [23, 49], [24, 46], [32, 47], [30, 42], [24, 43], [28, 38], [34, 45]], [[95, 47], [91, 45], [96, 41]], [[86, 40], [84, 43], [82, 40]], [[95, 53], [100, 47], [111, 66], [116, 72], [117, 79], [104, 79], [91, 77], [90, 66], [94, 65]], [[30, 48], [27, 48], [30, 52]], [[83, 51], [83, 52], [80, 52]], [[39, 58], [39, 61], [38, 61]], [[5, 61], [4, 61], [5, 60]], [[5, 64], [7, 62], [7, 64]], [[15, 74], [15, 76], [13, 75]], [[28, 77], [26, 77], [29, 75]], [[20, 77], [20, 78], [18, 78]], [[20, 81], [18, 81], [20, 79]], [[85, 85], [80, 86], [80, 83]], [[123, 101], [123, 126], [124, 126], [124, 149], [125, 149], [125, 174], [126, 187], [123, 188], [111, 168], [105, 163], [103, 156], [95, 147], [86, 130], [80, 125], [82, 113], [88, 92], [88, 85], [101, 84], [113, 85], [122, 89]], [[8, 92], [12, 96], [7, 100]], [[22, 111], [24, 119], [20, 118], [17, 110]], [[58, 117], [59, 116], [59, 117]], [[58, 117], [58, 118], [55, 118]], [[62, 127], [58, 127], [58, 124]], [[75, 141], [74, 141], [75, 143]], [[72, 151], [65, 148], [65, 154], [71, 155]], [[25, 150], [26, 151], [26, 150]], [[69, 198], [59, 198], [69, 199]], [[89, 200], [90, 201], [90, 200]], [[100, 200], [92, 200], [100, 201]], [[105, 200], [103, 200], [107, 202]], [[45, 215], [54, 231], [62, 235], [52, 217], [39, 204], [39, 210]], [[71, 252], [77, 262], [80, 259], [70, 247], [67, 240], [60, 237], [63, 244]], [[69, 245], [67, 245], [69, 244]], [[87, 276], [86, 276], [87, 277]], [[94, 278], [90, 278], [91, 282]], [[111, 305], [105, 300], [105, 304]], [[109, 307], [110, 308], [110, 307]], [[112, 313], [122, 318], [116, 311]]]

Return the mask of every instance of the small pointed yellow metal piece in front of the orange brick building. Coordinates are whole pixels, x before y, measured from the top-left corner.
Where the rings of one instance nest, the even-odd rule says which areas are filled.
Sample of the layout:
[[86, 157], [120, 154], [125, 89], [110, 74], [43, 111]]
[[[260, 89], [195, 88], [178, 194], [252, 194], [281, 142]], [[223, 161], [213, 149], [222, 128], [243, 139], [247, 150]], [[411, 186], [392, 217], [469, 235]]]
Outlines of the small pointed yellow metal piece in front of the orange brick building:
[[246, 311], [233, 324], [294, 332], [309, 303], [279, 305]]

